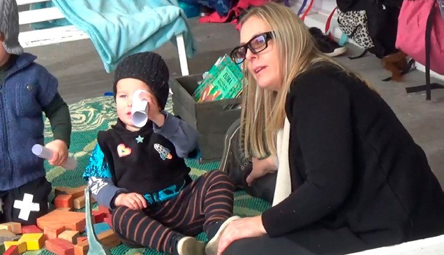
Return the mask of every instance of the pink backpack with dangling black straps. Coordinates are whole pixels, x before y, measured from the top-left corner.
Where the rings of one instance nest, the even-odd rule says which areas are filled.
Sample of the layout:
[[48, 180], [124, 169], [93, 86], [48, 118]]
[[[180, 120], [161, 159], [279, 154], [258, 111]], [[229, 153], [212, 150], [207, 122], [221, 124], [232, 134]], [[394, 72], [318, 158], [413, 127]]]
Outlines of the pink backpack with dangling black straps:
[[430, 69], [444, 75], [444, 15], [438, 1], [404, 1], [398, 31], [397, 48], [426, 68], [426, 85], [407, 87], [406, 92], [425, 90], [426, 100], [430, 100], [431, 89], [444, 89], [443, 85], [430, 83]]

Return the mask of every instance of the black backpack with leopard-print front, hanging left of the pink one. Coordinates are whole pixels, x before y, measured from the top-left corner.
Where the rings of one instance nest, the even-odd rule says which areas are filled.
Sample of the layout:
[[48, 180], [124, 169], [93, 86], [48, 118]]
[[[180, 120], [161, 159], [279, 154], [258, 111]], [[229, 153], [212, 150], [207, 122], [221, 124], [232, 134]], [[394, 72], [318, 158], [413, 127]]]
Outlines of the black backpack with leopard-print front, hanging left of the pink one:
[[[338, 24], [344, 34], [379, 59], [395, 48], [402, 0], [336, 0]], [[355, 59], [358, 57], [350, 57]]]

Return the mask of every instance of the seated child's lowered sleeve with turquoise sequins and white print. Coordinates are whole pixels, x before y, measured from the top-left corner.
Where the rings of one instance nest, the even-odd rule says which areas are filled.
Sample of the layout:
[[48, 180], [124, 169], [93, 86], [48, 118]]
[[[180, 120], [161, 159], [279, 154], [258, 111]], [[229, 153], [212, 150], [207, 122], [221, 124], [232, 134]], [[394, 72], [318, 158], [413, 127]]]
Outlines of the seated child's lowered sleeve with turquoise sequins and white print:
[[128, 192], [114, 185], [110, 168], [99, 145], [94, 148], [83, 177], [88, 180], [88, 187], [94, 199], [108, 208], [114, 207], [114, 198]]

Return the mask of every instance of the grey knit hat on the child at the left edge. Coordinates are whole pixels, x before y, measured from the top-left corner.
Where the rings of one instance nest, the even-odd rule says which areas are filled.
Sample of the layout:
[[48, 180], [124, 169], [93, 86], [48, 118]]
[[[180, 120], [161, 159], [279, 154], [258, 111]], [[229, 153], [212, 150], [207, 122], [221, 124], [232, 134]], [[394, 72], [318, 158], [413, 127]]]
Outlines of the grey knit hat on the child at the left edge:
[[5, 36], [3, 48], [9, 54], [22, 54], [23, 48], [18, 41], [20, 28], [15, 0], [0, 0], [0, 15], [0, 32]]

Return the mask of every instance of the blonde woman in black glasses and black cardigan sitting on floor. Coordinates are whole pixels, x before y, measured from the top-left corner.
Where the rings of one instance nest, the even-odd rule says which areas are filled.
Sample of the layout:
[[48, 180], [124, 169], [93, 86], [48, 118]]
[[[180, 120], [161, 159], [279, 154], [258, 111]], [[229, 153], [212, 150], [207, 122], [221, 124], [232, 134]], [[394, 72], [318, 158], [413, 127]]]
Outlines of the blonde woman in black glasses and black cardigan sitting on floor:
[[227, 224], [218, 254], [346, 254], [444, 233], [422, 149], [362, 78], [316, 50], [293, 11], [253, 8], [240, 38], [241, 135], [262, 162], [251, 175], [277, 166], [278, 176], [274, 206]]

